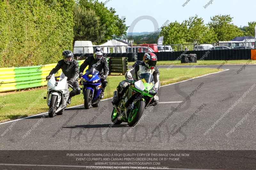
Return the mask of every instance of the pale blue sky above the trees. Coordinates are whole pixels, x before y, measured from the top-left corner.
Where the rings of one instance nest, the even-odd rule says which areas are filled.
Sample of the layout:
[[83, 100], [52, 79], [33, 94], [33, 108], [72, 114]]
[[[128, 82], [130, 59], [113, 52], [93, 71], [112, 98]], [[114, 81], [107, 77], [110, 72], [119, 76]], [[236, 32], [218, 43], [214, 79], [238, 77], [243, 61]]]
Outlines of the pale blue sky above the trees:
[[[105, 2], [108, 0], [100, 0]], [[116, 9], [116, 14], [125, 16], [126, 25], [131, 26], [132, 22], [141, 16], [149, 16], [155, 20], [155, 25], [162, 26], [167, 20], [182, 22], [190, 16], [204, 19], [208, 23], [214, 15], [231, 15], [236, 26], [246, 26], [248, 22], [256, 21], [255, 0], [212, 0], [207, 8], [204, 6], [210, 0], [190, 0], [185, 7], [182, 5], [189, 0], [109, 0], [108, 8]], [[156, 26], [155, 26], [156, 27]], [[128, 30], [132, 32], [132, 30]], [[156, 31], [150, 20], [142, 19], [134, 25], [133, 32]]]

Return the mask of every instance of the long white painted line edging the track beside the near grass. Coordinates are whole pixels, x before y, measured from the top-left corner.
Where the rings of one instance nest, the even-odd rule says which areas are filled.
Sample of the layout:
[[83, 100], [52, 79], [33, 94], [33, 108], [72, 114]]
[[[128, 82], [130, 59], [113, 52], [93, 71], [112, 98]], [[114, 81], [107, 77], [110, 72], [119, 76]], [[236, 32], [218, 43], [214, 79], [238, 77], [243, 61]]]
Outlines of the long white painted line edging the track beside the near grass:
[[[190, 78], [188, 80], [183, 80], [183, 81], [180, 81], [180, 82], [176, 82], [176, 83], [172, 83], [172, 84], [168, 84], [168, 85], [163, 85], [163, 86], [160, 86], [160, 87], [165, 87], [165, 86], [169, 86], [169, 85], [175, 85], [175, 84], [178, 84], [178, 83], [183, 83], [183, 82], [190, 81], [190, 80], [193, 80], [193, 79], [196, 79], [196, 78], [201, 78], [201, 77], [204, 77], [204, 76], [209, 76], [209, 75], [212, 75], [212, 74], [217, 74], [217, 73], [220, 73], [220, 72], [223, 72], [223, 71], [228, 71], [228, 70], [230, 70], [230, 69], [225, 69], [225, 70], [218, 71], [218, 72], [215, 72], [215, 73], [210, 73], [210, 74], [206, 74], [206, 75], [203, 75], [203, 76], [199, 76], [199, 77], [195, 77], [195, 78]], [[112, 98], [113, 97], [108, 98], [108, 99], [104, 99], [104, 100], [100, 100], [100, 101], [105, 101], [105, 100], [109, 100], [109, 99], [112, 99]], [[73, 108], [73, 107], [78, 107], [78, 106], [83, 106], [83, 104], [82, 105], [77, 105], [77, 106], [72, 106], [72, 107], [67, 107], [67, 108]], [[34, 117], [34, 116], [44, 115], [44, 114], [47, 114], [47, 113], [48, 112], [44, 112], [44, 113], [40, 113], [40, 114], [37, 114], [37, 115], [32, 115], [32, 116], [28, 116], [28, 117], [24, 117], [24, 118], [20, 118], [20, 119], [15, 119], [15, 120], [8, 121], [8, 122], [3, 122], [3, 123], [0, 123], [0, 125], [5, 124], [5, 123], [10, 123], [10, 122], [15, 122], [15, 121], [23, 120], [23, 119], [28, 119], [28, 118]]]

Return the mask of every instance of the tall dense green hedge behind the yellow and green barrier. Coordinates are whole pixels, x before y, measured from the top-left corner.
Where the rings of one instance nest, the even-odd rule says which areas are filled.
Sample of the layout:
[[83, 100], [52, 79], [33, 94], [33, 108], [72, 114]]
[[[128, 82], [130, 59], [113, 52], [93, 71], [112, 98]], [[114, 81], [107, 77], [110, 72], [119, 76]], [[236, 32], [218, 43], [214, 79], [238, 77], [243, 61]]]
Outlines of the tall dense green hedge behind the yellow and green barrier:
[[74, 0], [0, 0], [0, 67], [56, 63], [72, 50]]

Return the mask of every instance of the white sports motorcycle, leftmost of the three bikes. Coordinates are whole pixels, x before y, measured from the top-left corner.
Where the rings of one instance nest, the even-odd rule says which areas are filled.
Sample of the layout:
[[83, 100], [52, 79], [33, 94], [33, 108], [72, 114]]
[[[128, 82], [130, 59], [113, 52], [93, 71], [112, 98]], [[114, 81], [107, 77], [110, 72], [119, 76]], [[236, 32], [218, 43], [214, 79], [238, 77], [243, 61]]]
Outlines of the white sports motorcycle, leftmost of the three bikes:
[[72, 85], [67, 83], [67, 77], [62, 73], [60, 75], [60, 80], [57, 80], [54, 74], [48, 80], [47, 83], [47, 104], [49, 106], [49, 117], [53, 117], [54, 114], [62, 115], [63, 110], [67, 107], [67, 100], [69, 97], [68, 86], [73, 88]]

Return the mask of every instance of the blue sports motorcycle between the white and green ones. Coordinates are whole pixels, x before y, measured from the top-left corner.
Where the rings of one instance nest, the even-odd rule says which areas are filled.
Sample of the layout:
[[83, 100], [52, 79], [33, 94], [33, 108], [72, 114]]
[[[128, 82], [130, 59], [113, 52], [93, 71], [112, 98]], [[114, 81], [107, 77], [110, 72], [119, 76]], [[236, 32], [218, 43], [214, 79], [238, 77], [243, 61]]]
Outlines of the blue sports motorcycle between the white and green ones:
[[100, 72], [95, 69], [96, 67], [97, 65], [94, 64], [90, 70], [86, 70], [86, 73], [81, 78], [85, 109], [89, 109], [90, 105], [92, 107], [99, 106], [102, 84], [99, 77]]

